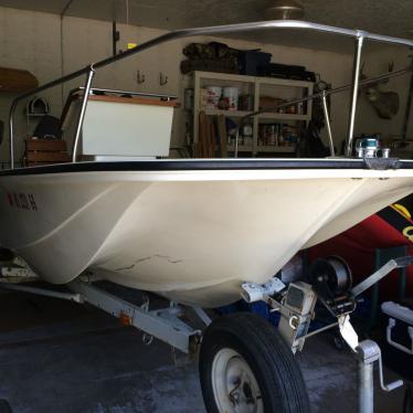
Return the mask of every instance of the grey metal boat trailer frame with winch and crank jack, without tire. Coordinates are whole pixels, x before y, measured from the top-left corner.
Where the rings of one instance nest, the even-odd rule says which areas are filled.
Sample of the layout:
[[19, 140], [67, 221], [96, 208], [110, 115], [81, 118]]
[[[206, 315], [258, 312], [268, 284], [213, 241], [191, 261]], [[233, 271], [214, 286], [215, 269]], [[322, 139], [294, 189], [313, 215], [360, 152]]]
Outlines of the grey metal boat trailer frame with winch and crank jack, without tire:
[[[28, 286], [27, 283], [39, 277], [25, 266], [24, 262], [0, 267], [0, 288], [19, 290], [50, 297], [88, 303], [117, 317], [124, 325], [133, 326], [144, 331], [144, 341], [152, 342], [153, 338], [169, 343], [189, 356], [197, 354], [202, 346], [203, 328], [211, 325], [210, 316], [199, 307], [187, 307], [170, 301], [168, 307], [150, 308], [146, 294], [144, 304], [131, 304], [117, 295], [107, 292], [98, 282], [104, 277], [98, 271], [87, 271], [65, 286], [72, 292], [52, 290]], [[385, 265], [351, 288], [351, 274], [346, 263], [339, 257], [318, 260], [311, 265], [308, 283], [293, 282], [285, 285], [279, 278], [273, 277], [264, 285], [245, 283], [241, 286], [241, 298], [248, 304], [264, 301], [271, 311], [278, 311], [280, 320], [278, 330], [293, 353], [301, 351], [306, 339], [337, 328], [342, 339], [357, 354], [359, 413], [373, 413], [373, 366], [379, 364], [381, 389], [390, 392], [403, 385], [402, 380], [384, 384], [381, 350], [377, 342], [367, 339], [359, 341], [358, 335], [350, 322], [350, 314], [360, 301], [360, 295], [395, 268], [413, 265], [413, 256], [390, 260]], [[309, 331], [315, 318], [316, 303], [320, 301], [337, 321], [326, 327]], [[188, 314], [195, 315], [203, 328], [193, 328]], [[193, 317], [192, 317], [193, 320]], [[266, 322], [273, 328], [269, 322]], [[235, 398], [237, 393], [232, 394]], [[233, 403], [236, 403], [232, 401]]]

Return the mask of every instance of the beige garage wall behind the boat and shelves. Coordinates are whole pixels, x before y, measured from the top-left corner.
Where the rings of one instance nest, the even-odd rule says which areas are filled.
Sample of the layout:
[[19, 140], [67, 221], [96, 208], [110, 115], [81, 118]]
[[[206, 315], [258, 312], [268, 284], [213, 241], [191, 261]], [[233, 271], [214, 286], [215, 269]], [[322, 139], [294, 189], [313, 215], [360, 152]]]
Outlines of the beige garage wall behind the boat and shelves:
[[[141, 43], [161, 33], [160, 30], [127, 27], [119, 24], [120, 49], [126, 49], [128, 42]], [[209, 41], [212, 38], [183, 39], [167, 43], [160, 47], [142, 52], [140, 55], [127, 59], [112, 67], [99, 70], [94, 82], [96, 87], [113, 87], [130, 91], [159, 92], [178, 94], [183, 102], [183, 91], [190, 85], [189, 76], [182, 76], [179, 64], [183, 59], [182, 47], [192, 41]], [[213, 39], [216, 41], [216, 38]], [[273, 60], [287, 64], [303, 64], [309, 70], [320, 73], [321, 77], [331, 83], [333, 87], [347, 84], [351, 81], [352, 56], [350, 54], [332, 53], [309, 49], [285, 47], [265, 45], [245, 41], [232, 41], [218, 39], [237, 49], [263, 49], [273, 54]], [[95, 62], [112, 54], [112, 23], [93, 21], [78, 18], [64, 18], [46, 13], [27, 12], [14, 9], [0, 8], [0, 65], [31, 71], [40, 81], [40, 84], [49, 82], [62, 74], [67, 74], [89, 62]], [[379, 51], [380, 63], [384, 65], [389, 57], [388, 50]], [[367, 59], [373, 57], [378, 52], [370, 53]], [[403, 54], [398, 55], [403, 61]], [[384, 62], [384, 63], [383, 63]], [[382, 73], [383, 70], [375, 65], [370, 75]], [[145, 74], [146, 82], [138, 85], [136, 72]], [[162, 71], [168, 76], [169, 82], [165, 86], [159, 85], [159, 72]], [[46, 96], [52, 105], [52, 114], [60, 116], [62, 102], [66, 93], [72, 87], [80, 86], [83, 78], [72, 81], [71, 84], [56, 87], [42, 96]], [[401, 82], [398, 86], [405, 91], [407, 81]], [[389, 84], [390, 86], [390, 84]], [[62, 97], [64, 96], [64, 97]], [[340, 142], [346, 137], [348, 121], [348, 99], [349, 94], [336, 95], [331, 100], [331, 118], [335, 140]], [[10, 94], [0, 94], [0, 118], [7, 120], [8, 109], [12, 99]], [[362, 114], [357, 123], [357, 130], [377, 131], [380, 126], [385, 133], [394, 133], [392, 121], [378, 123], [378, 118], [372, 109], [361, 102]], [[178, 109], [174, 123], [172, 144], [179, 145], [184, 140], [187, 114], [183, 109]], [[31, 123], [32, 129], [35, 123]], [[21, 157], [23, 147], [22, 139], [28, 134], [28, 125], [24, 116], [24, 105], [18, 109], [17, 156]], [[0, 148], [0, 161], [8, 159], [8, 144]]]

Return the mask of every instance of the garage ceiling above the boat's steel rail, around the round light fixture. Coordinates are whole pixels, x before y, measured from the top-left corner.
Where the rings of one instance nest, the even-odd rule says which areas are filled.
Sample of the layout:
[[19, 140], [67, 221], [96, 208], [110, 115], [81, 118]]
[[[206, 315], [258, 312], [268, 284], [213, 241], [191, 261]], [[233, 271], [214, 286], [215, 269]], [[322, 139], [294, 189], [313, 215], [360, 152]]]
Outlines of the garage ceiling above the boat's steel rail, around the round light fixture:
[[[272, 0], [0, 0], [3, 7], [123, 23], [128, 19], [130, 24], [159, 29], [264, 20], [264, 10], [273, 3]], [[303, 0], [303, 3], [307, 21], [402, 38], [410, 36], [413, 29], [405, 18], [413, 15], [411, 0]], [[297, 39], [296, 33], [266, 31], [231, 36], [321, 49], [338, 45], [331, 38], [318, 34]]]

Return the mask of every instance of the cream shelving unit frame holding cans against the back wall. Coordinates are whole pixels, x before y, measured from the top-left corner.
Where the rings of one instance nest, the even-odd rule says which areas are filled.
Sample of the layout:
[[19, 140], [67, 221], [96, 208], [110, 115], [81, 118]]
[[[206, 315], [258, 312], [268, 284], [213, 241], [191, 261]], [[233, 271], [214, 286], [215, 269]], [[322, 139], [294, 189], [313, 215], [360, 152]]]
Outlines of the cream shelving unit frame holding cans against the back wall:
[[[225, 73], [212, 72], [193, 72], [193, 141], [199, 141], [199, 115], [203, 110], [209, 116], [224, 115], [239, 123], [244, 116], [257, 112], [260, 109], [261, 96], [277, 96], [287, 99], [299, 98], [313, 94], [311, 82], [292, 81], [273, 77], [244, 76]], [[253, 112], [246, 110], [220, 110], [211, 108], [201, 108], [201, 88], [206, 86], [237, 86], [242, 94], [248, 93], [253, 95]], [[285, 114], [285, 113], [266, 113], [253, 117], [253, 145], [239, 146], [239, 152], [251, 152], [252, 156], [258, 153], [293, 153], [293, 146], [264, 146], [258, 145], [258, 127], [260, 124], [283, 123], [288, 125], [299, 125], [311, 119], [311, 100], [307, 103], [305, 114]], [[231, 147], [229, 147], [231, 151]]]

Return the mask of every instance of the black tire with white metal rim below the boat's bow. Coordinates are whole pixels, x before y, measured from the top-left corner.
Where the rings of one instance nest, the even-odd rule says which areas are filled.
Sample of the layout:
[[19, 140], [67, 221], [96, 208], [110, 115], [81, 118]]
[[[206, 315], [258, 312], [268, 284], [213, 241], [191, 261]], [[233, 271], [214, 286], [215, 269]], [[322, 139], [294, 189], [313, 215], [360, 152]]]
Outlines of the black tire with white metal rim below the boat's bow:
[[200, 351], [209, 413], [308, 413], [307, 389], [292, 350], [262, 317], [236, 313], [206, 329]]

